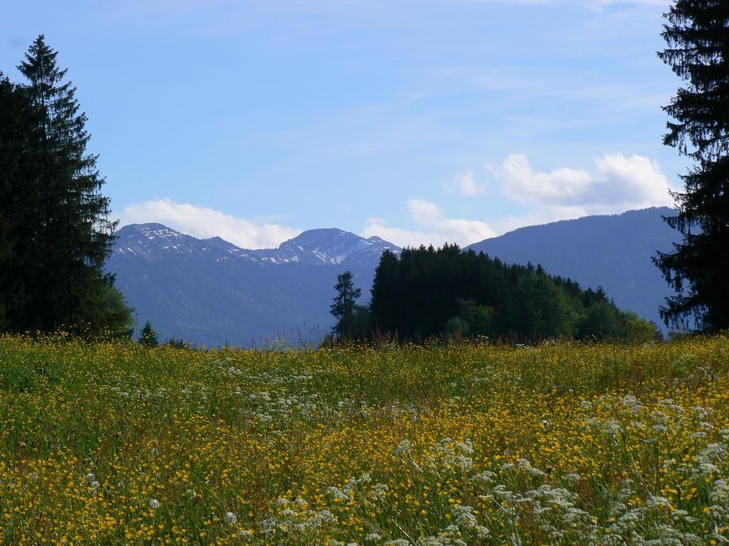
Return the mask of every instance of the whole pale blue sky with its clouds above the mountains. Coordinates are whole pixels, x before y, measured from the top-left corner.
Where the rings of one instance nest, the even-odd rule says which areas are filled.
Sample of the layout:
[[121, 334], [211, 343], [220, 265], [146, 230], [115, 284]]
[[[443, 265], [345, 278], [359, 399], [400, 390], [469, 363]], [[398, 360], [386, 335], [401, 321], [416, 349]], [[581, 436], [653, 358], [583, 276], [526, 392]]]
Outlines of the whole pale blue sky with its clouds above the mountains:
[[339, 227], [461, 245], [671, 203], [667, 1], [8, 2], [78, 87], [122, 223], [249, 248]]

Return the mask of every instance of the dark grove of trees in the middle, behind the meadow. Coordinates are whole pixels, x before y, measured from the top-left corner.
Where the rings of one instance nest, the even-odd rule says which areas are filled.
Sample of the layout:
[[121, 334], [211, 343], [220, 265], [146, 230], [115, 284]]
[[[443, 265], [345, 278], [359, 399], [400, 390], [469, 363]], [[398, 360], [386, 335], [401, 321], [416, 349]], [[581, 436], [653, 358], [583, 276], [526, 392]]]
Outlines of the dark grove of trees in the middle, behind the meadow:
[[[342, 277], [337, 287], [340, 299]], [[512, 341], [660, 337], [654, 324], [617, 309], [602, 288], [582, 290], [577, 282], [550, 276], [541, 266], [507, 265], [473, 250], [462, 252], [457, 245], [405, 248], [399, 256], [387, 250], [375, 270], [370, 305], [354, 304], [351, 285], [344, 293], [351, 304], [346, 314], [335, 314], [339, 337], [363, 339], [373, 333], [412, 341], [448, 336]]]

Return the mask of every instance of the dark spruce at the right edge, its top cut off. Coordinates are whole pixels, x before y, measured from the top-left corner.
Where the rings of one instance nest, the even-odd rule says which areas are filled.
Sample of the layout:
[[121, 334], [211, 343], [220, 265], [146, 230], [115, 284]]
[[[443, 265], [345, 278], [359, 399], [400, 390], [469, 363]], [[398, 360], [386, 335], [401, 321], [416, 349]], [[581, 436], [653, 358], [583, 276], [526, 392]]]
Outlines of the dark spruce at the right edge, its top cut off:
[[675, 120], [663, 143], [694, 165], [674, 193], [678, 214], [665, 218], [683, 240], [654, 258], [676, 290], [660, 314], [718, 331], [729, 328], [729, 2], [677, 0], [665, 17], [658, 57], [685, 87], [663, 108]]

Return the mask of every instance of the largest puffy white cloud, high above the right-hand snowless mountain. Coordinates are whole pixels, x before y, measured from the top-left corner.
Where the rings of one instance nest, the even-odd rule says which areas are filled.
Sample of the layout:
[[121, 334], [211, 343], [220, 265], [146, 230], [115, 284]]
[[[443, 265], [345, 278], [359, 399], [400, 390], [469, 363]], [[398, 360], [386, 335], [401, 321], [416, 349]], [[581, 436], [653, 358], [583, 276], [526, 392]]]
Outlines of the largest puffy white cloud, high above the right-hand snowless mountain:
[[668, 178], [647, 157], [609, 154], [595, 162], [594, 173], [570, 167], [541, 173], [525, 155], [514, 154], [495, 174], [506, 197], [540, 210], [566, 207], [599, 214], [673, 204]]

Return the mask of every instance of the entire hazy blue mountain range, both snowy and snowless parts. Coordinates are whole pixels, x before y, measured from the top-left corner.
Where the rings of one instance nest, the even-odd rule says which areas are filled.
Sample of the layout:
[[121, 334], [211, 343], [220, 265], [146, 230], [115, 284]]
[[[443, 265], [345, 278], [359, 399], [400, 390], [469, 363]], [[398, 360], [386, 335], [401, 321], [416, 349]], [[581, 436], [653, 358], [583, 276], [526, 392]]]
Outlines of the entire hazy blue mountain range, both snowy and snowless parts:
[[[651, 208], [530, 226], [469, 248], [507, 263], [542, 264], [584, 288], [602, 286], [618, 307], [658, 323], [669, 292], [650, 257], [676, 240], [661, 220], [671, 212]], [[281, 337], [321, 339], [333, 324], [337, 275], [351, 271], [366, 303], [386, 249], [400, 250], [380, 237], [312, 229], [276, 249], [246, 250], [144, 223], [117, 232], [106, 270], [116, 274], [139, 326], [149, 320], [160, 339], [261, 346]]]

